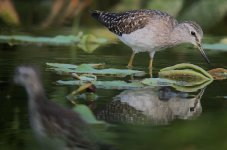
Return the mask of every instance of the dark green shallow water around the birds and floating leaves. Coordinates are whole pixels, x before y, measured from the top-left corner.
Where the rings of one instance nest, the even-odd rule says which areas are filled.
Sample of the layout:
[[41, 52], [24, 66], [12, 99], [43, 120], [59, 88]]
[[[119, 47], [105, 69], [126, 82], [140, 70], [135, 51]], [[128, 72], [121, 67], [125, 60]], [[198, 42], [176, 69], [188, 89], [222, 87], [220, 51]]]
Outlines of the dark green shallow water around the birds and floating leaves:
[[[166, 51], [158, 52], [154, 60], [154, 73], [157, 74], [158, 70], [163, 67], [183, 62], [199, 65], [205, 70], [218, 67], [226, 68], [226, 52], [212, 52], [209, 50], [206, 52], [211, 60], [211, 65], [206, 64], [202, 56], [200, 56], [200, 53], [190, 45], [174, 47]], [[38, 66], [43, 76], [44, 87], [48, 97], [53, 99], [56, 103], [70, 108], [72, 105], [66, 100], [65, 96], [76, 89], [76, 87], [56, 85], [55, 81], [63, 79], [63, 77], [53, 72], [46, 71], [46, 62], [71, 64], [105, 63], [107, 67], [125, 68], [130, 54], [130, 48], [121, 43], [101, 47], [92, 54], [87, 54], [80, 49], [70, 47], [8, 46], [1, 44], [0, 149], [39, 149], [29, 126], [27, 95], [23, 88], [15, 86], [12, 83], [12, 75], [16, 66], [20, 64], [33, 64]], [[149, 57], [146, 53], [137, 54], [134, 61], [135, 69], [148, 71], [148, 61]], [[179, 101], [187, 103], [190, 100], [185, 98], [185, 96], [192, 98], [201, 91], [198, 91], [198, 93], [183, 94], [177, 91], [171, 93], [170, 91], [171, 98], [167, 98], [166, 101], [159, 100], [160, 90], [152, 89], [151, 92], [148, 91], [148, 94], [146, 94], [146, 92], [144, 94], [144, 91], [140, 91], [139, 95], [142, 95], [142, 97], [140, 97], [141, 100], [144, 101], [146, 99], [143, 96], [148, 96], [151, 97], [148, 98], [149, 100], [156, 99], [156, 101], [158, 101], [157, 103], [162, 103], [165, 107], [168, 107], [168, 111], [165, 114], [168, 116], [166, 117], [168, 119], [164, 118], [163, 121], [155, 118], [154, 114], [157, 113], [155, 110], [157, 109], [156, 102], [155, 105], [147, 108], [153, 112], [150, 112], [149, 115], [143, 113], [141, 115], [142, 117], [139, 116], [141, 118], [153, 119], [151, 119], [152, 121], [148, 119], [149, 121], [146, 124], [143, 124], [142, 121], [139, 121], [139, 124], [134, 124], [133, 121], [125, 121], [127, 120], [127, 116], [133, 118], [133, 116], [130, 117], [130, 114], [127, 114], [127, 111], [124, 111], [126, 117], [123, 116], [123, 119], [114, 120], [114, 117], [111, 119], [107, 116], [106, 120], [116, 124], [110, 131], [117, 135], [114, 139], [114, 143], [116, 143], [117, 147], [120, 149], [135, 150], [227, 149], [227, 101], [224, 98], [227, 93], [226, 86], [227, 80], [223, 80], [214, 81], [205, 88], [204, 93], [202, 93], [199, 98], [199, 104], [201, 103], [201, 105], [198, 106], [200, 112], [196, 113], [195, 117], [192, 117], [193, 119], [186, 117], [188, 116], [186, 109], [189, 111], [190, 107], [182, 111], [184, 112], [182, 116], [177, 113], [179, 112], [178, 109], [183, 108], [183, 106], [178, 105], [173, 99], [176, 100], [176, 97], [181, 97]], [[167, 91], [169, 91], [169, 89]], [[98, 89], [97, 95], [99, 98], [92, 104], [94, 113], [98, 118], [105, 118], [100, 117], [99, 114], [105, 111], [108, 105], [111, 105], [113, 97], [121, 93], [121, 96], [126, 94], [124, 100], [127, 99], [127, 101], [130, 101], [132, 99], [127, 95], [129, 94], [127, 92], [135, 94], [138, 91], [126, 91], [125, 93], [123, 90]], [[137, 100], [139, 101], [140, 98], [137, 98]], [[132, 109], [136, 110], [137, 113], [141, 113], [141, 109], [143, 110], [144, 106], [148, 106], [147, 102], [144, 103], [145, 104], [141, 107], [137, 107], [134, 104], [130, 105], [130, 108], [134, 106]], [[166, 103], [171, 104], [167, 106]], [[164, 107], [162, 104], [157, 105], [160, 107], [157, 111], [160, 112]], [[184, 104], [184, 106], [187, 105], [189, 104]], [[166, 110], [167, 109], [165, 109], [165, 111]], [[129, 112], [134, 113], [132, 111]], [[116, 113], [116, 115], [123, 114], [121, 112], [114, 113]]]

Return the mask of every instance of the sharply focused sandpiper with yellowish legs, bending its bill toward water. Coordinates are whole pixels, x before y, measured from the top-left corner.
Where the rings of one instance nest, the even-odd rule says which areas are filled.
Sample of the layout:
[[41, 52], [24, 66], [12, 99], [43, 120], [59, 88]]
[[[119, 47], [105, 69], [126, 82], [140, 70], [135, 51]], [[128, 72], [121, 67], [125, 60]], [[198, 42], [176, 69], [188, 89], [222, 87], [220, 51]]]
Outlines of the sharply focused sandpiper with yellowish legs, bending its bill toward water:
[[132, 67], [133, 59], [138, 52], [150, 55], [149, 74], [152, 76], [152, 63], [156, 51], [191, 43], [195, 45], [209, 63], [203, 51], [201, 41], [203, 31], [193, 21], [178, 21], [171, 15], [158, 10], [131, 10], [122, 13], [91, 11], [91, 15], [106, 26], [118, 38], [132, 48], [128, 67]]

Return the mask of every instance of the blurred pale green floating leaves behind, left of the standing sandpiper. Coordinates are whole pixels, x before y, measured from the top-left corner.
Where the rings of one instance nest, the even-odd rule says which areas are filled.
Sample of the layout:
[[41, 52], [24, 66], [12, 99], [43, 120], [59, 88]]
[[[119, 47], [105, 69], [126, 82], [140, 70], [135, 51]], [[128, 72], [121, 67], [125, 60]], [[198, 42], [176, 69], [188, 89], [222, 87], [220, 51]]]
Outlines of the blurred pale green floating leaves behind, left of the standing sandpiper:
[[58, 35], [55, 37], [33, 37], [28, 35], [0, 35], [0, 42], [15, 44], [36, 44], [53, 46], [74, 46], [77, 45], [85, 52], [91, 53], [103, 44], [107, 44], [107, 39], [97, 38], [94, 35]]

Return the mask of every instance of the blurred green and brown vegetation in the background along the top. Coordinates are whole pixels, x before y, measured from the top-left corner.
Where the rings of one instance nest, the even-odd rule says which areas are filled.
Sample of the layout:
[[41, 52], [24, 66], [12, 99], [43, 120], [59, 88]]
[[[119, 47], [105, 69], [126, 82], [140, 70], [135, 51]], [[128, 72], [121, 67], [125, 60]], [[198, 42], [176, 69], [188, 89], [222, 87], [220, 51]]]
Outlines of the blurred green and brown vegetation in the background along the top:
[[[89, 14], [88, 10], [99, 9], [105, 11], [126, 11], [131, 9], [158, 9], [175, 16], [179, 20], [194, 20], [198, 22], [204, 31], [209, 34], [225, 35], [227, 33], [227, 1], [226, 0], [80, 0], [70, 16], [64, 18], [70, 8], [65, 3], [73, 3], [71, 0], [64, 1], [61, 10], [55, 10], [57, 15], [52, 22], [45, 22], [53, 15], [52, 9], [56, 1], [53, 0], [20, 0], [12, 1], [15, 11], [13, 16], [18, 15], [22, 28], [68, 26], [85, 28], [98, 25]], [[60, 5], [60, 4], [59, 4]], [[62, 4], [63, 5], [63, 4]], [[35, 6], [35, 7], [34, 7]], [[1, 8], [1, 7], [0, 7]], [[17, 14], [15, 14], [15, 12]], [[1, 14], [1, 10], [0, 10]], [[2, 15], [3, 16], [3, 15]], [[9, 23], [4, 15], [0, 24], [7, 27]], [[1, 17], [1, 15], [0, 15]], [[53, 16], [52, 16], [53, 18]], [[63, 19], [62, 19], [63, 18]], [[71, 18], [71, 19], [69, 19]], [[65, 20], [64, 20], [65, 19]], [[11, 24], [15, 22], [11, 18]], [[62, 23], [63, 22], [63, 23]], [[48, 24], [48, 25], [47, 25]], [[45, 27], [46, 27], [45, 26]], [[15, 28], [15, 27], [13, 27]], [[3, 30], [1, 30], [4, 32]]]

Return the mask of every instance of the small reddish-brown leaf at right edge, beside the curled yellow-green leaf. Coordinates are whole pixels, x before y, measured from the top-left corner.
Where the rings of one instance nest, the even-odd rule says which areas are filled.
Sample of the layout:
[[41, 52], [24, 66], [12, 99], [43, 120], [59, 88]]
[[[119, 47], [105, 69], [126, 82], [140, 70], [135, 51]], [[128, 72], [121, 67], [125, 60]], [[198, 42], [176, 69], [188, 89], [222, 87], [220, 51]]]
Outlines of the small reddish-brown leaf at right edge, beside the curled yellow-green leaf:
[[224, 68], [216, 68], [208, 71], [215, 80], [227, 79], [227, 70]]

